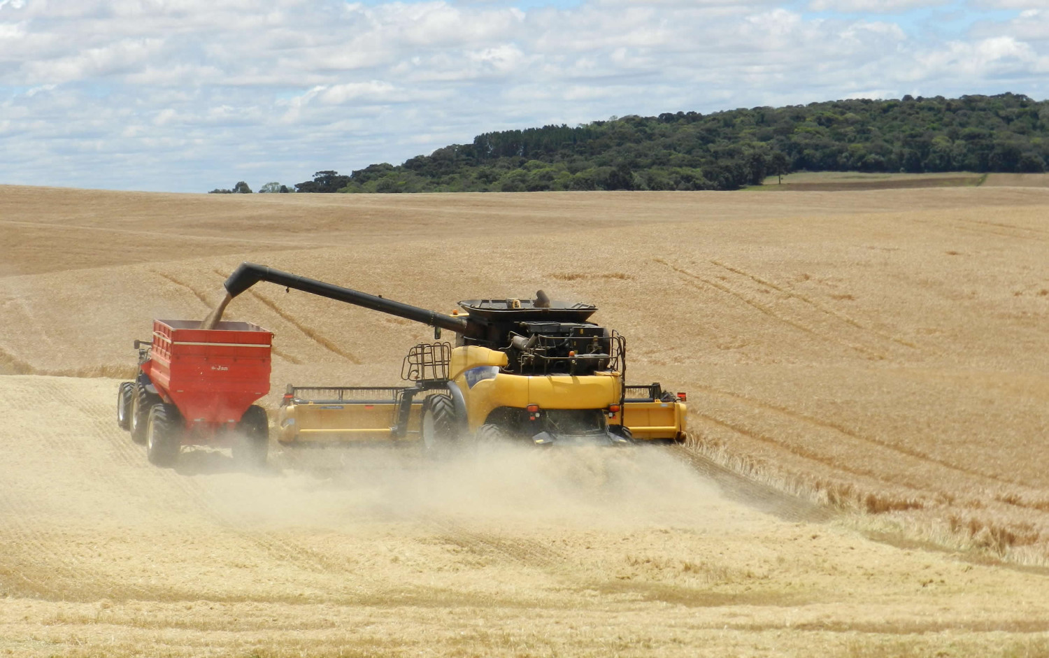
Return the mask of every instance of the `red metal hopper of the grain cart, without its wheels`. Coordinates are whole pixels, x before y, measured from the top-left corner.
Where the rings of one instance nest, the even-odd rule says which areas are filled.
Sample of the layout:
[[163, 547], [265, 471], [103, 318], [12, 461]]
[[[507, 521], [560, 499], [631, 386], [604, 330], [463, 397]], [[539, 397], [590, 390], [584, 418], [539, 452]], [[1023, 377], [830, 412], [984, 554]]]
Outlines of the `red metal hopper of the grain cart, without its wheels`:
[[270, 392], [273, 334], [249, 322], [153, 320], [148, 375], [187, 422], [239, 422]]

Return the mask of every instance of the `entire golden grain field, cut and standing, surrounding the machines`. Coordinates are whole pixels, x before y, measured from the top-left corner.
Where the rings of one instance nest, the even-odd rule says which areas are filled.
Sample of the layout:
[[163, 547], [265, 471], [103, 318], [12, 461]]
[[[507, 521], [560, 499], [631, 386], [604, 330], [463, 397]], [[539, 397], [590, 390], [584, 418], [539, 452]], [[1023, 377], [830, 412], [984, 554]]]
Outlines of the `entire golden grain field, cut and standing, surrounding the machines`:
[[[1049, 189], [0, 187], [0, 655], [1049, 653]], [[596, 303], [693, 445], [153, 468], [113, 420], [131, 341], [241, 260]], [[267, 284], [227, 317], [276, 333], [271, 406], [428, 338]]]

